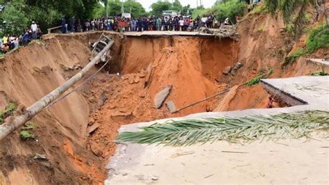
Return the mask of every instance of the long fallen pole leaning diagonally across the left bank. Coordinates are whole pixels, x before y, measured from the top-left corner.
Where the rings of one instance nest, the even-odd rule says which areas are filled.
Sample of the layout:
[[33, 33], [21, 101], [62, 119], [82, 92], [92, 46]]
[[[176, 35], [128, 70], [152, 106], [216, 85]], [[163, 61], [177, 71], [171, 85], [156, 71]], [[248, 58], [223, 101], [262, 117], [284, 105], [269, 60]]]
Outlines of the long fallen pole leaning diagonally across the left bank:
[[60, 97], [62, 93], [65, 93], [66, 90], [71, 88], [77, 81], [82, 79], [85, 74], [99, 61], [101, 56], [112, 47], [114, 41], [110, 41], [108, 45], [101, 51], [99, 54], [90, 61], [80, 72], [78, 72], [74, 77], [71, 77], [68, 81], [63, 83], [61, 86], [53, 90], [51, 93], [40, 99], [39, 101], [35, 102], [35, 104], [26, 108], [26, 113], [23, 115], [19, 115], [15, 117], [11, 122], [5, 122], [0, 125], [0, 140], [6, 138], [12, 131], [15, 131], [19, 127], [21, 127], [25, 122], [31, 120], [37, 113], [40, 113], [46, 106], [51, 104], [55, 99]]

